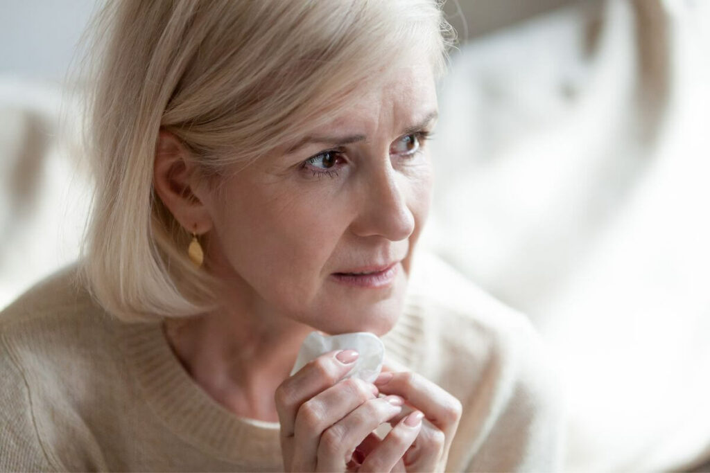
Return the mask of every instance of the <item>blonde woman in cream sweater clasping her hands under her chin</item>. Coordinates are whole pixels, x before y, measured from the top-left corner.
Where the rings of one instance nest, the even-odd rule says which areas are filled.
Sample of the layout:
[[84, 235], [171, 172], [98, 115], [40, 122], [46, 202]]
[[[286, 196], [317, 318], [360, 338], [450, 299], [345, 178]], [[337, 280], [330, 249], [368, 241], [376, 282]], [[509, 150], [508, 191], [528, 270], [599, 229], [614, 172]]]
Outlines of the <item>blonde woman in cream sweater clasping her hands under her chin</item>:
[[[431, 0], [111, 2], [84, 257], [0, 319], [0, 465], [555, 467], [529, 325], [427, 296], [445, 270], [405, 294], [445, 26]], [[381, 336], [386, 372], [290, 376], [312, 330]]]

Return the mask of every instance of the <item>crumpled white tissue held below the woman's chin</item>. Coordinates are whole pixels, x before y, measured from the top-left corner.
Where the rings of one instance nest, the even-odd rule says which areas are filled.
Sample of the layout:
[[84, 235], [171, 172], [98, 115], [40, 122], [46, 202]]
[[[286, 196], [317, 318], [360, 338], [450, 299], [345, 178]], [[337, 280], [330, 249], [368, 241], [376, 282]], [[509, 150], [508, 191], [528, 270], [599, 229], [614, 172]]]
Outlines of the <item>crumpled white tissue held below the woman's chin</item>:
[[382, 370], [385, 357], [385, 345], [377, 335], [369, 332], [342, 333], [340, 335], [322, 335], [318, 332], [308, 334], [296, 357], [291, 376], [304, 367], [310, 360], [320, 357], [333, 350], [356, 350], [360, 355], [343, 379], [360, 378], [368, 383], [373, 382]]

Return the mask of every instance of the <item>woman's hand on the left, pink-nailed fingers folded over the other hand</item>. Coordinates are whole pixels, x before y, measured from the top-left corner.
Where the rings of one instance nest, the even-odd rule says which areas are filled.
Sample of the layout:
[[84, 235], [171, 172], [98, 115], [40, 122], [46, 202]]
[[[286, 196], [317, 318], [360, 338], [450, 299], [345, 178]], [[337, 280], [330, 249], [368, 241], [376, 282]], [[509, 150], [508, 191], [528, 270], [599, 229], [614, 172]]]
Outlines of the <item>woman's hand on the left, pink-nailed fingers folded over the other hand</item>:
[[[405, 417], [379, 440], [373, 430], [402, 411], [400, 396], [378, 398], [374, 384], [342, 380], [355, 365], [357, 352], [328, 352], [285, 379], [275, 393], [281, 424], [281, 453], [288, 472], [345, 472], [376, 467], [403, 469], [402, 457], [417, 438], [421, 423]], [[342, 380], [342, 381], [341, 381]], [[412, 416], [415, 413], [411, 414]], [[368, 439], [366, 464], [351, 462], [356, 448]]]

